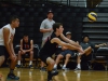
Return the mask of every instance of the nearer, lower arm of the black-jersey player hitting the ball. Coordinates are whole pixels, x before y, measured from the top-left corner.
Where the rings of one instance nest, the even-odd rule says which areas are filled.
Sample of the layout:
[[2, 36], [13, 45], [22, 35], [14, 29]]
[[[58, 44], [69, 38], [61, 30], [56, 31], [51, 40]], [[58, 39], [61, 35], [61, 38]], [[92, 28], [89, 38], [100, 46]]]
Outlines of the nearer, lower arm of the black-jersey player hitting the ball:
[[73, 46], [73, 45], [71, 45], [71, 44], [69, 44], [69, 43], [65, 43], [65, 42], [60, 41], [58, 38], [53, 38], [53, 39], [51, 40], [51, 43], [58, 43], [59, 45], [66, 46], [66, 48], [68, 48], [69, 50], [79, 50], [79, 48], [76, 48], [76, 46]]

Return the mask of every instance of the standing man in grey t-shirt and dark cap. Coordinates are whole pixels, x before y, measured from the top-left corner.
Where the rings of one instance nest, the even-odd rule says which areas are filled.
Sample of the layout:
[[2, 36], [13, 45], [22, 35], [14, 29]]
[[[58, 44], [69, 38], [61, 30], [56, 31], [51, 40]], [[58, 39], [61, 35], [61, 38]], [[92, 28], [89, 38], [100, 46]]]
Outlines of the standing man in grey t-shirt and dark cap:
[[[42, 37], [42, 43], [41, 43], [41, 48], [43, 48], [44, 43], [45, 43], [45, 40], [49, 36], [51, 36], [53, 29], [52, 29], [52, 25], [54, 24], [55, 22], [53, 21], [53, 11], [49, 11], [48, 12], [48, 18], [45, 18], [42, 23], [41, 23], [41, 26], [40, 26], [40, 32], [43, 33], [43, 37]], [[44, 71], [44, 64], [43, 62], [41, 62], [41, 70]]]

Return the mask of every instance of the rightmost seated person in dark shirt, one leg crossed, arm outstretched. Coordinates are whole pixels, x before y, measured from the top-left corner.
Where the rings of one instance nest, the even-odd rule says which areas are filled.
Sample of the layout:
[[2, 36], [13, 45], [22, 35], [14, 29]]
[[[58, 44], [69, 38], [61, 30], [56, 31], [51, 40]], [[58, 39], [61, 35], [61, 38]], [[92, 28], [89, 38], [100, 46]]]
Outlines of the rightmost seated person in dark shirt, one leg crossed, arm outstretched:
[[[102, 45], [106, 45], [106, 43], [94, 44], [94, 43], [90, 42], [89, 36], [84, 36], [82, 38], [82, 42], [80, 43], [80, 45], [84, 50], [84, 54], [87, 56], [87, 55], [90, 55], [92, 53], [92, 51], [94, 50], [94, 48], [99, 48]], [[80, 66], [81, 55], [82, 54], [78, 54], [78, 58], [77, 58], [78, 65], [77, 65], [77, 68], [75, 70], [81, 70], [81, 66]]]

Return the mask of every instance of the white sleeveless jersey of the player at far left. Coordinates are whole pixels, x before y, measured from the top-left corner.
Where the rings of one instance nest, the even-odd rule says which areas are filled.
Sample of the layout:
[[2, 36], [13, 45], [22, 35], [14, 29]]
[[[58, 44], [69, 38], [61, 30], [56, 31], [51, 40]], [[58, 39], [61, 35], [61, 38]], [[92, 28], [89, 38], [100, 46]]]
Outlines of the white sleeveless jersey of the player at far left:
[[9, 29], [10, 29], [9, 42], [10, 42], [11, 39], [13, 39], [13, 37], [14, 37], [14, 35], [15, 35], [15, 28], [12, 29], [12, 27], [11, 27], [10, 24], [3, 26], [3, 27], [0, 29], [0, 45], [4, 45], [3, 28], [9, 28]]

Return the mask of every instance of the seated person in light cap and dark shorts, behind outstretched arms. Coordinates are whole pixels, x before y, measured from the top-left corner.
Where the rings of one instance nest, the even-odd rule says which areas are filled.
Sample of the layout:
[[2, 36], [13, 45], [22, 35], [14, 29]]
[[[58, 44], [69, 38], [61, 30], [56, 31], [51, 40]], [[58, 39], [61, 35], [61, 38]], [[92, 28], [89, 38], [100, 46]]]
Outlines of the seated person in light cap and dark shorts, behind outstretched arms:
[[[71, 39], [71, 32], [66, 32], [66, 37], [68, 38], [68, 39]], [[64, 64], [64, 66], [63, 66], [63, 70], [66, 70], [67, 68], [66, 68], [66, 66], [67, 66], [67, 64], [68, 64], [68, 62], [69, 62], [69, 58], [71, 57], [71, 56], [75, 56], [75, 52], [73, 51], [71, 51], [71, 50], [68, 50], [66, 46], [62, 46], [62, 52], [57, 55], [57, 57], [56, 57], [56, 60], [55, 60], [55, 65], [54, 65], [54, 69], [57, 69], [57, 65], [58, 65], [58, 63], [59, 63], [59, 60], [62, 59], [62, 58], [64, 58], [64, 57], [66, 57], [66, 59], [65, 59], [65, 64]]]

